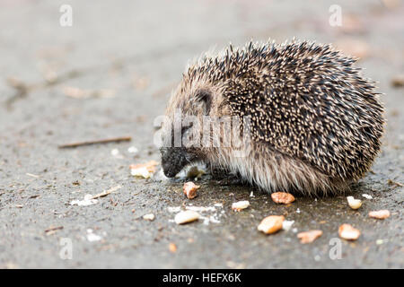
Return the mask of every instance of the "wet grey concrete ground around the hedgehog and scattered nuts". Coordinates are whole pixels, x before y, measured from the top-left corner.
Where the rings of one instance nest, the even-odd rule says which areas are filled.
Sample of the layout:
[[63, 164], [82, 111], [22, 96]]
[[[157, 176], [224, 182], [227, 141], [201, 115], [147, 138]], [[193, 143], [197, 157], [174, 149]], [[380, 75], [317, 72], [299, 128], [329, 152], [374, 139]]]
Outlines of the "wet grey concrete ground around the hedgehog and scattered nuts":
[[[61, 4], [73, 7], [72, 27], [59, 25]], [[342, 8], [341, 27], [329, 25], [331, 4]], [[404, 183], [404, 95], [391, 86], [391, 78], [404, 72], [402, 2], [7, 0], [0, 5], [0, 267], [404, 266], [403, 187], [388, 183]], [[209, 178], [201, 181], [200, 196], [189, 201], [180, 181], [130, 176], [130, 164], [160, 160], [153, 120], [189, 59], [230, 41], [294, 36], [337, 43], [347, 52], [356, 48], [352, 53], [363, 57], [358, 65], [386, 93], [382, 154], [373, 172], [352, 187], [352, 195], [364, 201], [358, 211], [347, 207], [344, 196], [297, 198], [280, 206], [253, 187]], [[132, 136], [132, 142], [57, 148], [121, 135]], [[127, 152], [130, 146], [139, 152]], [[121, 157], [111, 155], [113, 149]], [[69, 204], [117, 185], [122, 188], [97, 204]], [[233, 213], [237, 200], [250, 200], [250, 208]], [[219, 223], [178, 226], [168, 207], [181, 204], [214, 206], [203, 214], [215, 215]], [[389, 209], [391, 217], [368, 218], [378, 209]], [[141, 219], [145, 213], [154, 213], [154, 222]], [[259, 221], [269, 214], [285, 214], [294, 221], [292, 229], [259, 233]], [[333, 260], [329, 242], [344, 222], [362, 236], [342, 240], [341, 258]], [[45, 232], [50, 227], [63, 229]], [[295, 231], [310, 229], [324, 234], [300, 244]], [[61, 239], [71, 240], [72, 259], [60, 257], [68, 248]]]

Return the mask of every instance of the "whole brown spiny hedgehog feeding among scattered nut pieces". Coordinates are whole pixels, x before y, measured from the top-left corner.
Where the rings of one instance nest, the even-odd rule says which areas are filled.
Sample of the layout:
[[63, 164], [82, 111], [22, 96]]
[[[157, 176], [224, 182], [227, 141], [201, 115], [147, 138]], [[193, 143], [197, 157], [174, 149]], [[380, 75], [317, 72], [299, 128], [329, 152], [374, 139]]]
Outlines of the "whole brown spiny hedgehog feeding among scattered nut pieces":
[[[344, 193], [370, 170], [385, 122], [380, 93], [356, 61], [296, 39], [206, 53], [171, 92], [161, 129], [165, 176], [204, 161], [268, 193]], [[224, 118], [233, 126], [217, 129]]]

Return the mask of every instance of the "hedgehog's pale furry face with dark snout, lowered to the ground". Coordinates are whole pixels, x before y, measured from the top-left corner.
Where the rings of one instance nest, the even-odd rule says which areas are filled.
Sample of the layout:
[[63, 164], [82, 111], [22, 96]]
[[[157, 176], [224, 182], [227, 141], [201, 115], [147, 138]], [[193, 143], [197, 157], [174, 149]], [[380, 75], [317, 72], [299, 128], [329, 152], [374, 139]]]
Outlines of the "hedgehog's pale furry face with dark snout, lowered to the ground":
[[175, 92], [162, 124], [162, 170], [175, 177], [186, 165], [204, 161], [201, 146], [203, 117], [209, 115], [212, 93], [206, 89]]

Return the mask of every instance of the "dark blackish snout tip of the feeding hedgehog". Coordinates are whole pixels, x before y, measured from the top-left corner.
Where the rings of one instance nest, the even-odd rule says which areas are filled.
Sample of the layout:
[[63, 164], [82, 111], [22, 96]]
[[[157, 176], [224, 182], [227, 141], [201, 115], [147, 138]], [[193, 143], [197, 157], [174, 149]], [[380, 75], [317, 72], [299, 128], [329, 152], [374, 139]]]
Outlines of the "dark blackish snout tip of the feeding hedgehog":
[[162, 171], [167, 178], [173, 178], [189, 163], [189, 154], [184, 148], [164, 148], [162, 152]]

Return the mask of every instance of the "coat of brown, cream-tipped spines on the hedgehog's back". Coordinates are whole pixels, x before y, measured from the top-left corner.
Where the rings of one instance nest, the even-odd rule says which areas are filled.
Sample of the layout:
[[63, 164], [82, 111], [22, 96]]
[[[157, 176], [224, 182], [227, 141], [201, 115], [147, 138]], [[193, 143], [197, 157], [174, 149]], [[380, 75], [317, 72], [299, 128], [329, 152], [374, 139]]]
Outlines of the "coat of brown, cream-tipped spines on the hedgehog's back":
[[380, 151], [385, 120], [375, 83], [355, 63], [329, 44], [230, 44], [190, 65], [181, 91], [220, 87], [217, 107], [251, 117], [254, 142], [335, 182], [357, 180]]

